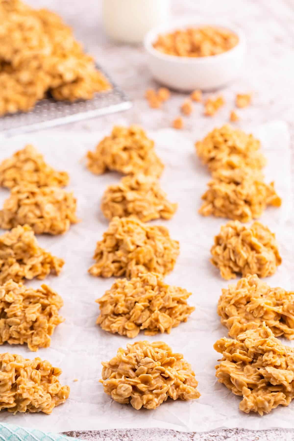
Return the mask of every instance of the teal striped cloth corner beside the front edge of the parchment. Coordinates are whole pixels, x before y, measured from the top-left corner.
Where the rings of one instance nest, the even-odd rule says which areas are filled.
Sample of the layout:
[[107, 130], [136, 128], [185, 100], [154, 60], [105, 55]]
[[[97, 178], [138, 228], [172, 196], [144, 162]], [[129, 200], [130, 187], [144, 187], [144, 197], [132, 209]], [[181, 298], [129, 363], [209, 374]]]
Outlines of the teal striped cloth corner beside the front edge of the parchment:
[[65, 435], [45, 433], [41, 430], [26, 429], [0, 422], [0, 441], [78, 441], [78, 438], [66, 437]]

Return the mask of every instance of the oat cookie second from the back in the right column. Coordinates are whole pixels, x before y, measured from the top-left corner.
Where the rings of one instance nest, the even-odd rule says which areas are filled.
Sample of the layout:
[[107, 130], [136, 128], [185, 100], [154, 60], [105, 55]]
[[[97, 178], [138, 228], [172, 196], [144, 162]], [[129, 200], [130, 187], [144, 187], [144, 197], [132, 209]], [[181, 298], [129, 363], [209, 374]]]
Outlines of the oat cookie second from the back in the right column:
[[265, 183], [259, 173], [246, 169], [220, 170], [217, 176], [208, 182], [208, 190], [202, 195], [205, 202], [199, 213], [203, 216], [249, 222], [261, 217], [267, 206], [281, 206], [274, 183]]

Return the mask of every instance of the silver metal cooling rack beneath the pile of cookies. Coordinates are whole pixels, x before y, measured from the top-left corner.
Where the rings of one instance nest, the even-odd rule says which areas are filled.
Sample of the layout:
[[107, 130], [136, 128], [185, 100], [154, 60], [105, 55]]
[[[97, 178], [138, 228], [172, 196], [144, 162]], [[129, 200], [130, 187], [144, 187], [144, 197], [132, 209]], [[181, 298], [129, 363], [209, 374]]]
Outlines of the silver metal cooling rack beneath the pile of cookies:
[[53, 99], [38, 101], [30, 112], [18, 112], [1, 117], [0, 135], [19, 135], [129, 109], [132, 103], [125, 93], [116, 86], [102, 67], [97, 66], [97, 69], [111, 83], [111, 90], [96, 93], [95, 97], [88, 101], [74, 103]]

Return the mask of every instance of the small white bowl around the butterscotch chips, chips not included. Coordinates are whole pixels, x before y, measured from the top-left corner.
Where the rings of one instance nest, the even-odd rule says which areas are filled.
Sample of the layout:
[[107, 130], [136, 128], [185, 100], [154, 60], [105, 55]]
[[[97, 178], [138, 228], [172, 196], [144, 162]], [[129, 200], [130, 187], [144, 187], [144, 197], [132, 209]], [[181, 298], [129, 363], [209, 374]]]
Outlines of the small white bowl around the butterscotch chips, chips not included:
[[144, 38], [144, 46], [149, 59], [149, 68], [153, 77], [171, 89], [191, 91], [214, 90], [231, 82], [238, 76], [246, 51], [245, 38], [233, 26], [209, 23], [210, 26], [229, 29], [239, 38], [234, 48], [218, 55], [207, 57], [182, 57], [164, 54], [153, 48], [159, 34], [166, 34], [177, 29], [199, 27], [207, 23], [177, 22], [157, 26], [151, 29]]

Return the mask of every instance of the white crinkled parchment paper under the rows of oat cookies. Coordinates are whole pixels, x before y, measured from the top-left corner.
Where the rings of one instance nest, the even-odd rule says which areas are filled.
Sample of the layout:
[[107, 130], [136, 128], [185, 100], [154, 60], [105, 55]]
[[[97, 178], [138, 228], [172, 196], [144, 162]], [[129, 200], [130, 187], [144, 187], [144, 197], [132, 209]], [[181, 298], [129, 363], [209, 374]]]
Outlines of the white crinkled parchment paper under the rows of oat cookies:
[[[108, 131], [107, 131], [108, 132]], [[273, 277], [267, 279], [272, 286], [294, 289], [293, 271], [293, 221], [291, 219], [293, 194], [290, 191], [290, 147], [287, 127], [282, 122], [268, 123], [255, 130], [261, 138], [268, 158], [266, 176], [275, 180], [276, 189], [283, 198], [280, 209], [268, 208], [261, 221], [277, 235], [283, 263]], [[179, 202], [178, 212], [170, 221], [158, 221], [166, 225], [171, 237], [180, 242], [180, 256], [174, 271], [167, 276], [170, 284], [192, 292], [189, 303], [196, 306], [187, 323], [179, 325], [171, 334], [127, 339], [106, 333], [95, 322], [99, 307], [95, 299], [110, 288], [113, 279], [91, 277], [87, 269], [93, 263], [96, 241], [102, 238], [108, 222], [100, 211], [100, 198], [110, 183], [120, 179], [116, 173], [94, 176], [87, 171], [81, 158], [93, 149], [102, 133], [81, 134], [74, 132], [44, 132], [1, 140], [0, 160], [8, 157], [26, 143], [33, 143], [52, 166], [67, 170], [71, 176], [69, 190], [78, 199], [78, 215], [82, 222], [73, 225], [62, 236], [38, 236], [42, 247], [63, 257], [66, 264], [59, 277], [50, 276], [45, 283], [64, 299], [61, 314], [66, 318], [53, 336], [50, 348], [30, 352], [26, 346], [5, 344], [2, 351], [21, 354], [27, 358], [39, 356], [48, 359], [53, 366], [63, 370], [62, 384], [71, 387], [69, 400], [53, 409], [51, 415], [8, 414], [2, 411], [0, 421], [42, 430], [98, 430], [109, 428], [161, 427], [183, 431], [206, 431], [219, 427], [267, 429], [294, 427], [294, 403], [279, 406], [269, 415], [246, 415], [238, 410], [240, 397], [234, 396], [225, 386], [216, 382], [215, 364], [220, 357], [212, 345], [227, 335], [220, 324], [216, 305], [221, 288], [227, 282], [220, 278], [217, 269], [208, 261], [213, 237], [219, 232], [225, 219], [201, 217], [197, 209], [201, 194], [210, 179], [208, 171], [198, 161], [194, 151], [195, 135], [166, 129], [150, 132], [156, 141], [156, 149], [166, 168], [161, 185], [172, 202]], [[202, 134], [198, 138], [201, 138]], [[9, 192], [0, 190], [1, 201]], [[231, 283], [236, 283], [232, 281]], [[26, 282], [38, 287], [39, 280]], [[109, 360], [117, 348], [140, 339], [164, 340], [174, 351], [182, 352], [192, 364], [201, 398], [190, 402], [168, 400], [158, 409], [134, 410], [120, 405], [103, 392], [99, 383], [101, 361]], [[74, 382], [74, 378], [78, 378]]]

